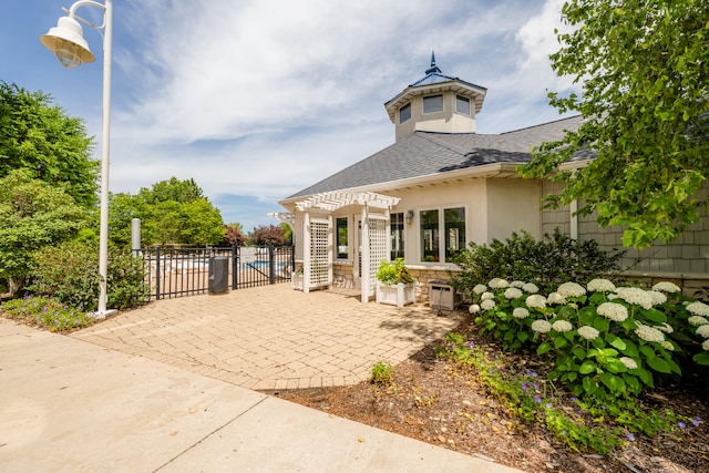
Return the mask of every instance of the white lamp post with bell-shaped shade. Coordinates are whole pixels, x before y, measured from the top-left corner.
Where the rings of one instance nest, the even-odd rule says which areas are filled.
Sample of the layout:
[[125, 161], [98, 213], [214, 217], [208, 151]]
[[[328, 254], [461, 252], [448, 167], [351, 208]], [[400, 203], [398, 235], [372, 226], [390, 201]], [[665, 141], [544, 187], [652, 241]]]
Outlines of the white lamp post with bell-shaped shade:
[[[80, 7], [96, 7], [103, 10], [103, 24], [95, 25], [76, 17]], [[40, 37], [40, 41], [54, 53], [64, 68], [78, 68], [84, 62], [94, 62], [95, 58], [84, 40], [81, 24], [88, 24], [94, 30], [103, 30], [103, 131], [101, 144], [101, 217], [99, 229], [99, 310], [96, 316], [106, 317], [106, 279], [109, 267], [109, 145], [111, 127], [111, 42], [113, 34], [113, 0], [100, 3], [92, 0], [80, 0], [65, 10], [69, 14], [56, 22], [55, 28]], [[79, 20], [79, 21], [78, 21]]]

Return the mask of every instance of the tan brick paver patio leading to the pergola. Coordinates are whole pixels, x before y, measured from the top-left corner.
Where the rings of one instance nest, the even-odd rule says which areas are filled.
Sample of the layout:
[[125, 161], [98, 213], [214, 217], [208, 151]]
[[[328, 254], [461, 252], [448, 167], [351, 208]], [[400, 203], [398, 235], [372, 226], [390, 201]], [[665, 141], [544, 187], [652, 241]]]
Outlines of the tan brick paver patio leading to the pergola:
[[361, 304], [289, 285], [152, 302], [71, 337], [255, 390], [353, 384], [454, 329], [463, 312]]

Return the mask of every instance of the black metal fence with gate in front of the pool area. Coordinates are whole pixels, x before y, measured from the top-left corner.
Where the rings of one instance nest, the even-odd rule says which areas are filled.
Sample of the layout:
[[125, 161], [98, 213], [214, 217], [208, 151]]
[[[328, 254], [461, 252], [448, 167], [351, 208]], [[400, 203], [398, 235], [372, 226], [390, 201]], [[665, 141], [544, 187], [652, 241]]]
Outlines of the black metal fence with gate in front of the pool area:
[[[206, 294], [215, 278], [225, 277], [228, 288], [266, 286], [290, 281], [294, 247], [143, 248], [135, 250], [145, 263], [147, 300]], [[226, 275], [215, 275], [216, 257], [226, 257]], [[236, 269], [236, 270], [235, 270]]]

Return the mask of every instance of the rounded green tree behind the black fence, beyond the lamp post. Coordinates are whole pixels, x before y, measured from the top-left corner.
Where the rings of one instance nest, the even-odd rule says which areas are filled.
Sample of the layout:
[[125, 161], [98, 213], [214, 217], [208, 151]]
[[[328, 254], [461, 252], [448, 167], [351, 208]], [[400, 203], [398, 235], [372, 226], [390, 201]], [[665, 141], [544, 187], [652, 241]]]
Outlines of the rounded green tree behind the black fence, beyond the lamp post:
[[137, 195], [115, 194], [109, 206], [111, 240], [131, 244], [131, 222], [141, 219], [142, 246], [217, 245], [224, 239], [222, 214], [194, 179], [172, 177], [142, 188]]

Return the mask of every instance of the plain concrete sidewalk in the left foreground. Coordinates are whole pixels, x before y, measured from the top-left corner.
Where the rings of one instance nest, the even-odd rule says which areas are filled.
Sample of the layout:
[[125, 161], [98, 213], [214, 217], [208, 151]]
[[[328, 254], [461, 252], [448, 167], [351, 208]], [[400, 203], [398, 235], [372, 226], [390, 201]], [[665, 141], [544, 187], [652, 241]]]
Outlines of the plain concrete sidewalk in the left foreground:
[[0, 318], [3, 472], [514, 472]]

